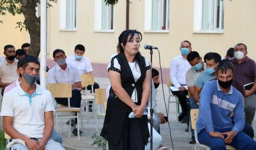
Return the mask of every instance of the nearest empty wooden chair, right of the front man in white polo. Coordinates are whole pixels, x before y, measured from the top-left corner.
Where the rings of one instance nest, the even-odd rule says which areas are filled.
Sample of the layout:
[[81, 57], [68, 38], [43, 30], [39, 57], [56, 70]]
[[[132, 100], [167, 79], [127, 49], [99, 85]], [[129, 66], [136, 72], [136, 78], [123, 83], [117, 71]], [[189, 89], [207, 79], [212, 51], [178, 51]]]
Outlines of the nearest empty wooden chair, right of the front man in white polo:
[[[58, 132], [58, 119], [69, 119], [69, 131], [68, 138], [71, 134], [71, 118], [77, 118], [77, 134], [78, 140], [80, 140], [80, 128], [79, 128], [79, 112], [80, 108], [70, 106], [70, 98], [72, 97], [71, 84], [48, 84], [48, 90], [51, 92], [54, 98], [68, 98], [68, 106], [56, 107], [55, 117], [56, 117], [56, 130]], [[58, 113], [66, 112], [69, 115], [60, 115]], [[72, 116], [72, 112], [76, 112], [76, 116]]]

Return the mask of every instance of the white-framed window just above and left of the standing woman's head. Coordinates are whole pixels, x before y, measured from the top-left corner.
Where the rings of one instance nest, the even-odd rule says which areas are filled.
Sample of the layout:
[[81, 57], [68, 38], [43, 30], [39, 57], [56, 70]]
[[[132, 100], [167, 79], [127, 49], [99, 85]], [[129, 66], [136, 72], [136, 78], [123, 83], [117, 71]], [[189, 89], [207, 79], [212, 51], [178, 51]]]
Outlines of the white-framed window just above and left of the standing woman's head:
[[114, 31], [114, 5], [106, 5], [104, 0], [95, 0], [94, 30]]

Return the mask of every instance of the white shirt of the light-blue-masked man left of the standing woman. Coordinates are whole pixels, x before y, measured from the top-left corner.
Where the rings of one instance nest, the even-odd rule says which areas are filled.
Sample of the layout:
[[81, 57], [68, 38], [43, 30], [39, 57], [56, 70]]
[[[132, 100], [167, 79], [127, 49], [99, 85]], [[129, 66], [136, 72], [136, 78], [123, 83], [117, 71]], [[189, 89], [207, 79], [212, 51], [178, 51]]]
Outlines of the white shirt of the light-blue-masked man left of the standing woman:
[[86, 74], [86, 72], [93, 71], [90, 59], [85, 56], [83, 56], [81, 60], [77, 60], [75, 54], [71, 55], [66, 58], [66, 63], [77, 68], [79, 70], [79, 74]]

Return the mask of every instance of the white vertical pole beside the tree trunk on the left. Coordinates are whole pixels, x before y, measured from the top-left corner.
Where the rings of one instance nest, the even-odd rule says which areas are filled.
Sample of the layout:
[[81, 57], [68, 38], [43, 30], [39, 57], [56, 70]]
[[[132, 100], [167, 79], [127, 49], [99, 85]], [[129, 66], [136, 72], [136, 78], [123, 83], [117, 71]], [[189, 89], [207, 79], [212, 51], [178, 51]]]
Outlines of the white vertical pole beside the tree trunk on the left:
[[47, 47], [47, 0], [41, 0], [41, 29], [40, 29], [40, 82], [41, 87], [46, 89], [46, 47]]

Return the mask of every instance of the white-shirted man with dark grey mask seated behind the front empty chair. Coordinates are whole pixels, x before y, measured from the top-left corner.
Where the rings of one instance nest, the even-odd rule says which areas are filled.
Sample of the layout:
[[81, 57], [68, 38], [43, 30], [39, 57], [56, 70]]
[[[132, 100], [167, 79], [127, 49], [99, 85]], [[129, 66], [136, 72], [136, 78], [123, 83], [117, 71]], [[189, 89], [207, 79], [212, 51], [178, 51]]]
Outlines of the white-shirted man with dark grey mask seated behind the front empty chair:
[[[49, 83], [69, 83], [72, 84], [72, 97], [70, 98], [70, 106], [80, 108], [81, 105], [81, 80], [78, 69], [66, 63], [65, 52], [61, 49], [53, 51], [53, 58], [56, 64], [49, 70]], [[56, 102], [62, 105], [68, 105], [68, 98], [55, 98]], [[74, 112], [74, 116], [76, 112]], [[71, 119], [72, 133], [77, 135], [76, 121]], [[75, 119], [76, 120], [76, 119]], [[67, 122], [69, 124], [69, 122]], [[83, 132], [80, 131], [80, 134]]]

